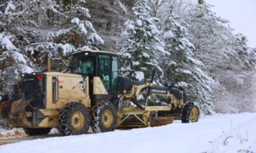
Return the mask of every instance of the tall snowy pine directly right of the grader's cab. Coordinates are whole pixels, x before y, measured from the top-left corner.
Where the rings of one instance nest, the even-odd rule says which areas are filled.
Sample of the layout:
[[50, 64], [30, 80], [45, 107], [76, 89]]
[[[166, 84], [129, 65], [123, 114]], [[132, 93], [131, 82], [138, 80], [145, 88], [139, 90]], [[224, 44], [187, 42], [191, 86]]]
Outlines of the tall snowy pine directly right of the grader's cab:
[[146, 81], [151, 77], [152, 69], [157, 68], [156, 82], [160, 82], [163, 71], [157, 59], [165, 54], [161, 41], [157, 38], [159, 31], [156, 27], [158, 18], [151, 17], [147, 1], [139, 0], [134, 4], [133, 18], [125, 22], [122, 33], [124, 41], [120, 52], [124, 57], [133, 61], [134, 77]]

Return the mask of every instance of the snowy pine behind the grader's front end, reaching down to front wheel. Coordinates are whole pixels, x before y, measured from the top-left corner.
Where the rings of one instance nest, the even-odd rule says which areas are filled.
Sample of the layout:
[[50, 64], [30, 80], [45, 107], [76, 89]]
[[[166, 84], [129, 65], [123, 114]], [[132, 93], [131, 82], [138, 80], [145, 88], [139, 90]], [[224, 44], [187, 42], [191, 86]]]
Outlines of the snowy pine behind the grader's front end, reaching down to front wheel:
[[179, 17], [171, 13], [164, 20], [164, 49], [170, 55], [164, 57], [162, 68], [168, 74], [168, 79], [177, 82], [187, 89], [189, 100], [200, 104], [205, 114], [213, 111], [211, 82], [212, 78], [201, 68], [202, 62], [194, 58], [193, 44], [188, 40], [189, 34], [184, 22], [179, 23]]

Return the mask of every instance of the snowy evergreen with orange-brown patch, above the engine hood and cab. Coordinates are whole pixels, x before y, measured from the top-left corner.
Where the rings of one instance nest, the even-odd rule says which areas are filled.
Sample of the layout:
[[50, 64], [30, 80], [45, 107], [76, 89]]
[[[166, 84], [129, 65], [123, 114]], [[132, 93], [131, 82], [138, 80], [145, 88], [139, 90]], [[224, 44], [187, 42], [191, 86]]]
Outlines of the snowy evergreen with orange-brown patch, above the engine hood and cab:
[[[37, 43], [29, 44], [26, 50], [33, 59], [39, 58], [37, 66], [42, 65], [47, 57], [67, 65], [68, 60], [65, 60], [65, 55], [69, 52], [74, 52], [78, 48], [97, 47], [104, 42], [92, 23], [87, 20], [90, 18], [90, 13], [84, 7], [85, 1], [67, 0], [60, 3], [44, 0], [36, 4], [38, 5], [35, 13], [38, 17], [36, 23], [39, 27], [35, 31], [40, 33], [41, 39]], [[53, 69], [61, 65], [63, 64], [53, 65]]]

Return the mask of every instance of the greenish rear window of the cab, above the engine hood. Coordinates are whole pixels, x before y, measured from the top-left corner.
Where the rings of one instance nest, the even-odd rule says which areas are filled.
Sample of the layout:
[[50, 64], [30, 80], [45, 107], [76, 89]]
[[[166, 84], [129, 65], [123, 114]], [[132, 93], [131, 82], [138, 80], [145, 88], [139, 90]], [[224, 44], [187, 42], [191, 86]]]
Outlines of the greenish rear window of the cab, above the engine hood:
[[94, 73], [93, 58], [79, 60], [78, 61], [78, 73], [83, 73], [86, 75], [93, 75], [93, 73]]

